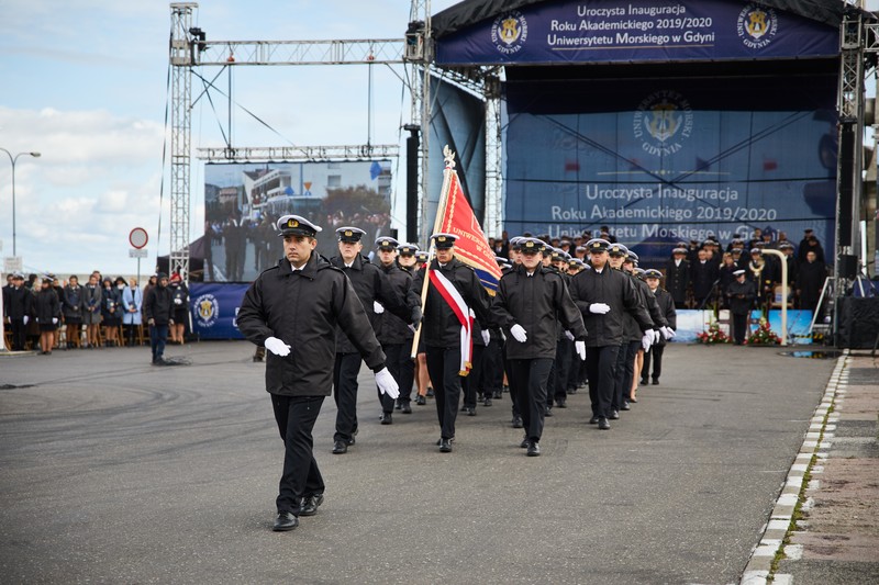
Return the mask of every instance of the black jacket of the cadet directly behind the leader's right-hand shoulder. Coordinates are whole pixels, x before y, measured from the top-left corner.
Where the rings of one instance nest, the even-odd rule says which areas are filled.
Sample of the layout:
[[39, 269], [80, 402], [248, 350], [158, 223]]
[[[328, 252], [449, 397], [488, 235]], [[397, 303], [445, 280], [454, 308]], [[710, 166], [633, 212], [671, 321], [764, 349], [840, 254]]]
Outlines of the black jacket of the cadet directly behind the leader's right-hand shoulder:
[[[381, 317], [389, 312], [407, 323], [411, 322], [411, 312], [407, 310], [403, 299], [394, 291], [379, 267], [370, 263], [368, 259], [359, 254], [354, 258], [351, 268], [345, 268], [345, 261], [340, 256], [331, 258], [330, 263], [342, 270], [351, 280], [354, 291], [357, 293], [357, 299], [364, 305], [364, 310], [369, 317], [369, 324], [376, 334], [381, 328]], [[378, 301], [385, 307], [385, 313], [381, 315], [376, 315], [372, 304], [375, 301]], [[345, 335], [345, 331], [341, 328], [336, 329], [336, 353], [356, 353], [358, 349]]]

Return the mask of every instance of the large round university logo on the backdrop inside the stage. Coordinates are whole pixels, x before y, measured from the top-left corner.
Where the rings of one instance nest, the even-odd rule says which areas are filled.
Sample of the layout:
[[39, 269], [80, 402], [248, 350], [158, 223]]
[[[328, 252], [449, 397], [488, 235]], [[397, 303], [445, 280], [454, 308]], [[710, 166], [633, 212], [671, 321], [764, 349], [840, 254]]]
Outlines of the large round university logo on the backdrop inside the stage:
[[674, 155], [693, 132], [692, 108], [677, 91], [657, 91], [638, 104], [633, 130], [644, 151]]

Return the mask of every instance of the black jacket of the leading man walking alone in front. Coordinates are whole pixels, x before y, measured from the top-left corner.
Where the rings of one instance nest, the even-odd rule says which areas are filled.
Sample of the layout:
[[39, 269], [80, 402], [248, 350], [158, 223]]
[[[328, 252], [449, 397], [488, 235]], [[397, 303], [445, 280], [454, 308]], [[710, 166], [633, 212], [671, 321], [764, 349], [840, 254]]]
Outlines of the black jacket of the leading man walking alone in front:
[[352, 334], [370, 370], [385, 368], [385, 352], [358, 305], [345, 273], [316, 251], [302, 270], [293, 271], [285, 258], [259, 274], [244, 294], [238, 329], [257, 346], [277, 337], [292, 348], [283, 358], [266, 352], [266, 390], [285, 396], [329, 396], [340, 327]]

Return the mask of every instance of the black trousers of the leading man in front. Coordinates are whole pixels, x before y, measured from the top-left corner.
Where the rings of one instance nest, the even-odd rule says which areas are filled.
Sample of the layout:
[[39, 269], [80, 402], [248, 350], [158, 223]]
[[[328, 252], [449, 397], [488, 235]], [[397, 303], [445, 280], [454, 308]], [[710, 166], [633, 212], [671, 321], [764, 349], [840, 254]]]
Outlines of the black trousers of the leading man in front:
[[303, 497], [323, 494], [323, 476], [314, 460], [314, 439], [311, 436], [323, 398], [271, 394], [275, 420], [283, 440], [283, 473], [276, 499], [278, 511], [299, 516]]

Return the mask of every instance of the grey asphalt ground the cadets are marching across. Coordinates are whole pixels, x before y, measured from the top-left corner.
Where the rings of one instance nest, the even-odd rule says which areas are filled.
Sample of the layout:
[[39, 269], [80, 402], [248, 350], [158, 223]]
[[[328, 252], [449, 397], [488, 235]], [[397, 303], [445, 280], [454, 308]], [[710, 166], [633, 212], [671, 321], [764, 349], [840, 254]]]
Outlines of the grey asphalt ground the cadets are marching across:
[[4, 583], [737, 583], [835, 360], [776, 348], [666, 350], [610, 431], [588, 393], [526, 458], [510, 401], [433, 401], [381, 426], [363, 369], [357, 445], [315, 427], [326, 498], [270, 530], [282, 445], [244, 341], [0, 357]]

